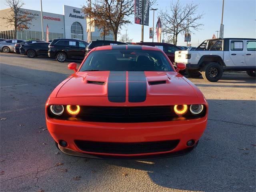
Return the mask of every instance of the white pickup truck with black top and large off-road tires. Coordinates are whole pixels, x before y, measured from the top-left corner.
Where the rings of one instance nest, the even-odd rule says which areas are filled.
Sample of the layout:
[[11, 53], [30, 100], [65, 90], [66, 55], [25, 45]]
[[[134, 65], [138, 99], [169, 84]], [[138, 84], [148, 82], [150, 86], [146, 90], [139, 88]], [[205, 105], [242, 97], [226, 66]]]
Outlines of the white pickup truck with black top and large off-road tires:
[[193, 51], [176, 51], [175, 63], [186, 64], [190, 77], [216, 82], [223, 71], [246, 71], [255, 77], [256, 39], [218, 38], [205, 40]]

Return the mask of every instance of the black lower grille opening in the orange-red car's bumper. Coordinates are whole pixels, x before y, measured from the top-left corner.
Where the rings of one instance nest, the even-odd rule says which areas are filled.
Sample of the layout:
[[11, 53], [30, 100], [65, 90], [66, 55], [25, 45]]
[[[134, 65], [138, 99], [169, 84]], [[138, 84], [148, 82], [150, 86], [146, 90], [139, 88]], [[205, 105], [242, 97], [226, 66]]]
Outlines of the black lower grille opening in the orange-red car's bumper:
[[144, 154], [166, 152], [176, 148], [180, 140], [139, 142], [139, 143], [114, 143], [75, 140], [76, 146], [85, 152], [107, 154]]

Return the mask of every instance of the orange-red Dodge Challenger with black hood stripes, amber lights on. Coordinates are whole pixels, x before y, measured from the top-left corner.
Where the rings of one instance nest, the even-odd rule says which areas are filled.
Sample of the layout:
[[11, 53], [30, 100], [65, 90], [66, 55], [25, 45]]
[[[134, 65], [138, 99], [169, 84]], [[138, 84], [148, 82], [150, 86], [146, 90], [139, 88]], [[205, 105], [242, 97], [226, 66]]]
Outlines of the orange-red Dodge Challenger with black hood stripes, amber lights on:
[[162, 50], [113, 45], [92, 49], [46, 102], [47, 128], [64, 153], [91, 158], [156, 158], [190, 152], [208, 104]]

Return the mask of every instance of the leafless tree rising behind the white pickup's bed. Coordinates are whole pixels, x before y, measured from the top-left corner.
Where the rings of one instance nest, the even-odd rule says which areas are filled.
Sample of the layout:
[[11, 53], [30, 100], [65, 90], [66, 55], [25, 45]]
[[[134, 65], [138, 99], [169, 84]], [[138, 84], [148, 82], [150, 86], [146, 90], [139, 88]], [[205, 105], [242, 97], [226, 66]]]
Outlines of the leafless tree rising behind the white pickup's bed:
[[160, 10], [162, 31], [172, 35], [173, 44], [177, 44], [178, 34], [201, 30], [203, 26], [199, 22], [203, 18], [203, 13], [198, 13], [198, 4], [190, 3], [182, 5], [179, 0], [172, 2], [166, 10]]

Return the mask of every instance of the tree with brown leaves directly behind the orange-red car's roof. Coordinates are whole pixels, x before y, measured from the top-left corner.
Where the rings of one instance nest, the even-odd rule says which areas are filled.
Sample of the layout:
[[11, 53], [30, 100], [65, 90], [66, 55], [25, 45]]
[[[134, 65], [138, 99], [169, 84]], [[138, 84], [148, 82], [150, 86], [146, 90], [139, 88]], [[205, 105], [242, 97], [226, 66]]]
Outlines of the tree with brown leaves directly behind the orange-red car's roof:
[[121, 27], [131, 23], [128, 17], [134, 12], [134, 0], [93, 0], [82, 7], [88, 18], [93, 18], [103, 32], [111, 31], [114, 40]]

